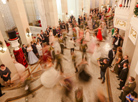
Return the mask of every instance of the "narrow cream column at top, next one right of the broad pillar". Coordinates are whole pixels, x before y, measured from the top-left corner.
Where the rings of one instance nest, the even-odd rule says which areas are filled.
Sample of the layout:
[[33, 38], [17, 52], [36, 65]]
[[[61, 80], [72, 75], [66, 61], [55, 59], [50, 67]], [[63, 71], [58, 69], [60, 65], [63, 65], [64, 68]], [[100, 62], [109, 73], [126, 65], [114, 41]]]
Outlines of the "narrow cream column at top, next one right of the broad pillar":
[[68, 13], [67, 0], [61, 0], [61, 7], [62, 7], [62, 19], [63, 21], [66, 21], [66, 13]]

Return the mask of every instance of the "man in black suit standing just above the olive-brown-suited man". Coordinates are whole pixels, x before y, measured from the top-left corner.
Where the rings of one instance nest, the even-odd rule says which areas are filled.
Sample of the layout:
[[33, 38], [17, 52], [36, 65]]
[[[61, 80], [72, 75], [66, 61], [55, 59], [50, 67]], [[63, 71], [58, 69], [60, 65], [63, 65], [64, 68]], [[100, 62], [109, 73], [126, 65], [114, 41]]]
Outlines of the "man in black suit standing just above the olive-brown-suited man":
[[127, 74], [128, 74], [128, 63], [123, 64], [123, 69], [119, 75], [120, 79], [120, 88], [117, 88], [119, 90], [122, 90], [122, 87], [125, 85], [126, 79], [127, 79]]

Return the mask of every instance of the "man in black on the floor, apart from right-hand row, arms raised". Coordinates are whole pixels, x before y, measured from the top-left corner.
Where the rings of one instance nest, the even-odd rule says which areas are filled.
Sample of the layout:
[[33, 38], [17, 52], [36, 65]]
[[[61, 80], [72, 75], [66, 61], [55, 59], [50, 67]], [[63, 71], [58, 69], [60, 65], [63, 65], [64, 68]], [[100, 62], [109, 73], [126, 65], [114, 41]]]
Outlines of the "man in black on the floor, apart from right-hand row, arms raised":
[[105, 72], [106, 72], [106, 69], [108, 68], [108, 62], [107, 62], [107, 59], [101, 59], [98, 61], [98, 64], [100, 66], [100, 74], [101, 76], [98, 78], [98, 79], [103, 79], [102, 81], [102, 84], [105, 82]]

